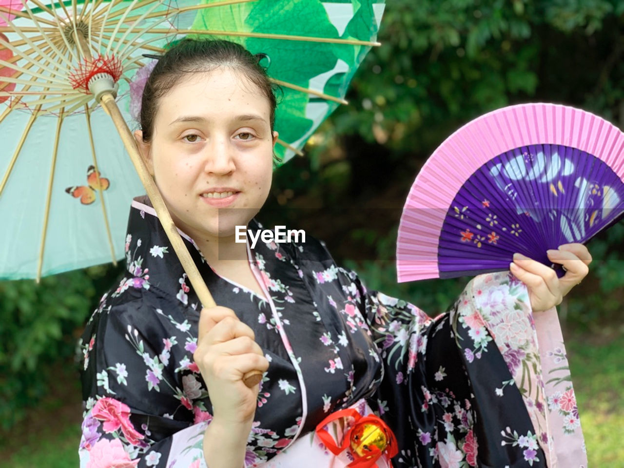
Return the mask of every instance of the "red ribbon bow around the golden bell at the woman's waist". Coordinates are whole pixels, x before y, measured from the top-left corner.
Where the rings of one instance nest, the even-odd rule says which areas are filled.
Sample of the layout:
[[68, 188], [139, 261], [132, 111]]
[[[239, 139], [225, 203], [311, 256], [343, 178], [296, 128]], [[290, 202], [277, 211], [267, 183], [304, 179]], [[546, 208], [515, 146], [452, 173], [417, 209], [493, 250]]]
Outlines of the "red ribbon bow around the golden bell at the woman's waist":
[[[336, 419], [341, 419], [343, 417], [350, 417], [354, 419], [354, 424], [349, 428], [349, 430], [344, 434], [343, 440], [340, 442], [340, 445], [334, 441], [334, 438], [329, 435], [329, 432], [324, 428], [330, 422], [336, 421]], [[369, 422], [370, 424], [374, 424], [386, 432], [386, 436], [388, 437], [388, 445], [386, 448], [381, 451], [378, 447], [371, 447], [371, 453], [366, 456], [358, 456], [357, 454], [353, 454], [356, 459], [349, 463], [347, 466], [351, 468], [371, 468], [373, 466], [377, 466], [377, 461], [382, 456], [384, 452], [388, 454], [388, 459], [396, 456], [399, 453], [399, 447], [396, 443], [396, 438], [394, 437], [394, 433], [388, 427], [388, 425], [378, 416], [374, 414], [369, 414], [368, 416], [362, 416], [358, 411], [354, 408], [346, 408], [341, 409], [340, 411], [333, 412], [328, 417], [323, 419], [323, 421], [319, 422], [318, 426], [316, 426], [316, 435], [321, 439], [321, 442], [332, 452], [334, 455], [338, 455], [344, 451], [349, 446], [349, 441], [351, 440], [351, 432], [353, 431], [356, 424], [364, 424]], [[390, 465], [392, 466], [392, 464]]]

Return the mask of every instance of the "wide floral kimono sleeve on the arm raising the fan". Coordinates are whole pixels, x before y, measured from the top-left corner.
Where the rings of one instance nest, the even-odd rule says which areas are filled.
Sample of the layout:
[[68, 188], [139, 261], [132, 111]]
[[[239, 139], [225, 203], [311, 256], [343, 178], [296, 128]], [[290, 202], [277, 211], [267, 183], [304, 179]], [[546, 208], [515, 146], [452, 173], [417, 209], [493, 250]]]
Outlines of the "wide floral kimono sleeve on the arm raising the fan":
[[433, 319], [345, 273], [383, 359], [376, 399], [400, 447], [394, 466], [557, 466], [557, 452], [570, 451], [583, 465], [582, 436], [553, 449], [522, 283], [509, 273], [477, 276]]

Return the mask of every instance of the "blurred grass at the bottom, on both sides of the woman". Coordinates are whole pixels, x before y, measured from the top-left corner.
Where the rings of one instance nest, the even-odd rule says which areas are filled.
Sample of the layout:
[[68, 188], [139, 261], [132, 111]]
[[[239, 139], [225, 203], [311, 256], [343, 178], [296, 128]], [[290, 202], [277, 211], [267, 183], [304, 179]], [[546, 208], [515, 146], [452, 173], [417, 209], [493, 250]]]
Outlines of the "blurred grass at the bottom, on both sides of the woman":
[[[589, 466], [624, 467], [624, 329], [568, 338], [567, 351]], [[0, 434], [0, 468], [78, 466], [81, 410], [75, 376], [68, 382], [73, 375], [59, 378], [51, 397], [19, 427]]]

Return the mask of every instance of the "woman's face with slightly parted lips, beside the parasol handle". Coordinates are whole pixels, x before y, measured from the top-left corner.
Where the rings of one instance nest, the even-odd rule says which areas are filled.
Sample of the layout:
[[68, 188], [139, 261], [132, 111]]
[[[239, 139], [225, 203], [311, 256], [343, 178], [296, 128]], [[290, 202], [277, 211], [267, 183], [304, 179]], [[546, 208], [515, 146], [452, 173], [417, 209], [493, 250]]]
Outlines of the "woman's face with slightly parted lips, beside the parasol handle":
[[268, 99], [244, 74], [219, 68], [183, 78], [158, 100], [152, 135], [139, 147], [173, 222], [193, 240], [233, 235], [258, 213], [277, 133]]

